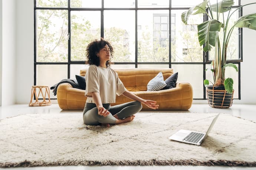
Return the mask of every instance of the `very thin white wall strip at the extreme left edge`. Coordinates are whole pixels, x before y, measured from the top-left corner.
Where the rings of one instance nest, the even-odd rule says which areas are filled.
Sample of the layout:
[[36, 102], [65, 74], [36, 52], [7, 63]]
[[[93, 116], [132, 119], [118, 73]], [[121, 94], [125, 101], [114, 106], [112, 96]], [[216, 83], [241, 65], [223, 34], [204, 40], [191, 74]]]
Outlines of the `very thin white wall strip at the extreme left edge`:
[[3, 8], [2, 8], [2, 0], [0, 0], [0, 106], [2, 105], [2, 64], [3, 64], [3, 51], [2, 51], [2, 45], [3, 45], [3, 37], [2, 37], [2, 17], [3, 17]]

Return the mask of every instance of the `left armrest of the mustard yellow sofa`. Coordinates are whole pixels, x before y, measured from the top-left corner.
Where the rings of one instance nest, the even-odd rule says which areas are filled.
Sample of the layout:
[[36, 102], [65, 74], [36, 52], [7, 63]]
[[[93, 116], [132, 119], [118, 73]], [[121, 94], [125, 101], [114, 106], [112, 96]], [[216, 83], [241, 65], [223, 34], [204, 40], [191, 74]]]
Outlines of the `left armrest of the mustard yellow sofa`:
[[86, 99], [85, 90], [73, 88], [69, 83], [58, 86], [57, 101], [62, 110], [82, 110]]

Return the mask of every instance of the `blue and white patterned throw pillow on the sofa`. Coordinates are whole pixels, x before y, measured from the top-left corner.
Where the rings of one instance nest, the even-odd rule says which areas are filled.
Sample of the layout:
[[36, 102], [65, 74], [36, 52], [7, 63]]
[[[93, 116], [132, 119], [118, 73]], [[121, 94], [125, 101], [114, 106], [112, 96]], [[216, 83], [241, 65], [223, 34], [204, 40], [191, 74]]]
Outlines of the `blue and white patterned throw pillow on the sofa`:
[[147, 91], [158, 91], [166, 86], [162, 72], [148, 82]]

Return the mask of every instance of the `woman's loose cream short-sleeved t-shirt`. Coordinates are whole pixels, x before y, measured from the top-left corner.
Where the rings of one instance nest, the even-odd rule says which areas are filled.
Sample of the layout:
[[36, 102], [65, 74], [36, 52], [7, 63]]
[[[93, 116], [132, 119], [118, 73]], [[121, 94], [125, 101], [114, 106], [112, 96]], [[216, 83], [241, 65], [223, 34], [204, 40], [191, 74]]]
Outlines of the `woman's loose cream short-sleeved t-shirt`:
[[120, 96], [126, 91], [118, 74], [112, 68], [90, 65], [85, 75], [85, 96], [87, 103], [95, 103], [92, 92], [99, 92], [102, 103], [115, 103], [116, 94]]

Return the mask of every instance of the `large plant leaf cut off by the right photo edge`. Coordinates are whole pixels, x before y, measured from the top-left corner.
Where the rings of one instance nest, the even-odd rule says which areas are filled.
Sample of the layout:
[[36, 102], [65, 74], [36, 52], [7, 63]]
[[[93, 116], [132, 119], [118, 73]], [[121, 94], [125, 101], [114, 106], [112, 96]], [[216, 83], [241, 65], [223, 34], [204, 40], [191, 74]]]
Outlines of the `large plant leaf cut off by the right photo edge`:
[[235, 22], [235, 26], [239, 28], [245, 27], [256, 30], [256, 13], [238, 18], [238, 20]]

